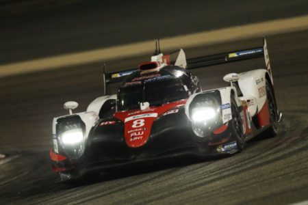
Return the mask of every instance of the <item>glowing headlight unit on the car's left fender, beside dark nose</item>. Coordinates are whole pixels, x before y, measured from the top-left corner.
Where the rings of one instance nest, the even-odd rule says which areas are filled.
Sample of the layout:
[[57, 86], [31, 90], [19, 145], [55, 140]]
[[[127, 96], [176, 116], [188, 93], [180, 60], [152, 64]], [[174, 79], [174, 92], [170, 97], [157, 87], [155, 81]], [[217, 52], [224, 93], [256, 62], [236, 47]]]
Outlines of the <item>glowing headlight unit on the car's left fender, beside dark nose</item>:
[[60, 118], [56, 126], [61, 150], [70, 159], [78, 159], [84, 154], [86, 124], [79, 115]]

